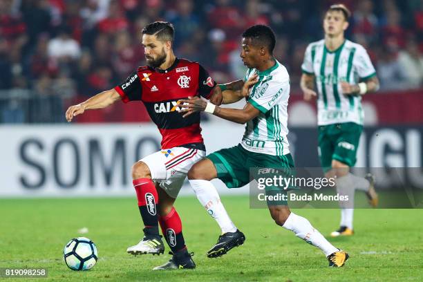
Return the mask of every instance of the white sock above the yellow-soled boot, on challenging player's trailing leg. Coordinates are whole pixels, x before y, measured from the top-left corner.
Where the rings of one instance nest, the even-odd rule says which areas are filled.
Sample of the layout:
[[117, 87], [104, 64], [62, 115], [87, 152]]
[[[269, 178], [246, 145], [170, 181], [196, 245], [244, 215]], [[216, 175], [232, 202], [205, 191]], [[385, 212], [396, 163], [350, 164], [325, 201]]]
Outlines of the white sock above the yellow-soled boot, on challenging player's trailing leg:
[[291, 230], [295, 233], [295, 236], [303, 239], [307, 243], [318, 247], [325, 253], [325, 256], [329, 256], [334, 252], [338, 252], [338, 249], [334, 247], [317, 229], [314, 229], [306, 218], [297, 216], [291, 212], [287, 220], [283, 224], [283, 227]]

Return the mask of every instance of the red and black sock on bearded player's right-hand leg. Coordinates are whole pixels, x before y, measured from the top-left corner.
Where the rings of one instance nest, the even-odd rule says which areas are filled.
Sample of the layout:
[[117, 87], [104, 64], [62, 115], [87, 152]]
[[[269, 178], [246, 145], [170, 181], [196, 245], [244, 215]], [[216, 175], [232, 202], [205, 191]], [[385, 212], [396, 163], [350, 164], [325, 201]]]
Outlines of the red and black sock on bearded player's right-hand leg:
[[182, 235], [182, 222], [176, 209], [172, 207], [171, 212], [167, 216], [160, 216], [159, 220], [163, 236], [166, 238], [173, 254], [186, 249], [184, 236]]

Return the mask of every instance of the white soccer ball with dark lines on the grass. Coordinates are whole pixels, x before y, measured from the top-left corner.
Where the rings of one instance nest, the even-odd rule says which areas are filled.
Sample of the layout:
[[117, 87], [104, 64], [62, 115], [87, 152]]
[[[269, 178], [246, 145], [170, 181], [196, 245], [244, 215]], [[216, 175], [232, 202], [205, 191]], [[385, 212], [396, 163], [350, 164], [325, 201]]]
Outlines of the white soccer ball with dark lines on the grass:
[[97, 263], [98, 252], [93, 241], [77, 237], [66, 244], [63, 256], [71, 270], [90, 270]]

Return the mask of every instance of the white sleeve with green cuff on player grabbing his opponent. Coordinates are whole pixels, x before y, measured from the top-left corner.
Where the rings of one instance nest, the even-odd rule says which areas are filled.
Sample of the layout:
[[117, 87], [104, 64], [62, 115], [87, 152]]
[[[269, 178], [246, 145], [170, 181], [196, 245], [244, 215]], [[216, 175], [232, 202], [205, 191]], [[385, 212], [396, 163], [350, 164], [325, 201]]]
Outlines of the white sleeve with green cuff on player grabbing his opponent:
[[248, 102], [262, 113], [267, 113], [275, 104], [286, 98], [286, 93], [290, 93], [289, 77], [273, 79], [253, 89], [253, 95]]

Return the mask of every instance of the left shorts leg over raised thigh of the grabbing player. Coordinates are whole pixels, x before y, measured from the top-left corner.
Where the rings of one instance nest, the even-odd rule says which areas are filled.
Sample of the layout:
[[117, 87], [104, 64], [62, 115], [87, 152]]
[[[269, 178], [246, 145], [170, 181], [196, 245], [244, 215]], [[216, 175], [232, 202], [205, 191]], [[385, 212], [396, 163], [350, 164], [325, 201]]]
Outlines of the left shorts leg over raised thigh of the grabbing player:
[[240, 144], [235, 147], [221, 149], [207, 155], [216, 169], [217, 178], [228, 188], [243, 187], [250, 182], [250, 169], [246, 167], [248, 151]]

